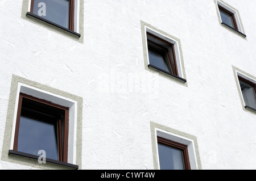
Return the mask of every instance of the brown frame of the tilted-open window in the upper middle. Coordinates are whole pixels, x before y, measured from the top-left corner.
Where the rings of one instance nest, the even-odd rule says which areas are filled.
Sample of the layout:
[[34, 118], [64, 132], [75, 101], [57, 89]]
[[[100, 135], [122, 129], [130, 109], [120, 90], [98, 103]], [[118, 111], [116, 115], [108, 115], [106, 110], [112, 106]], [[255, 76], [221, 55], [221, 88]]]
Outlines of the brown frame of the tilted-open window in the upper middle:
[[[159, 47], [160, 49], [162, 49], [162, 50], [156, 50], [156, 49], [154, 49], [153, 51], [154, 51], [155, 53], [161, 54], [163, 57], [165, 57], [165, 58], [164, 58], [164, 61], [168, 61], [168, 62], [166, 62], [166, 63], [167, 63], [168, 69], [172, 71], [171, 74], [174, 74], [174, 75], [176, 75], [177, 77], [179, 77], [179, 72], [178, 72], [178, 70], [177, 70], [177, 62], [176, 62], [174, 44], [172, 44], [172, 43], [170, 43], [170, 42], [168, 42], [168, 41], [166, 41], [166, 40], [164, 40], [164, 39], [161, 39], [160, 37], [158, 37], [158, 36], [156, 36], [156, 35], [154, 35], [154, 34], [152, 34], [152, 33], [150, 33], [150, 32], [147, 32], [147, 35], [149, 35], [149, 36], [151, 36], [151, 37], [154, 37], [155, 39], [157, 39], [157, 40], [159, 40], [159, 41], [162, 41], [163, 43], [165, 43], [165, 44], [167, 44], [168, 46], [171, 47], [172, 52], [170, 53], [170, 51], [169, 51], [166, 47], [163, 47], [162, 45], [159, 45], [159, 44], [157, 44], [157, 43], [155, 43], [155, 42], [153, 42], [153, 41], [151, 41], [151, 40], [147, 40], [147, 42], [148, 42], [148, 47], [147, 47], [147, 48], [148, 48], [148, 49], [154, 49], [154, 48], [150, 47], [149, 44], [154, 44], [155, 46], [157, 46], [157, 47]], [[173, 63], [172, 63], [172, 58], [171, 58], [171, 57], [173, 57], [173, 61], [174, 61]], [[167, 60], [166, 60], [166, 59], [167, 59]], [[174, 65], [173, 65], [173, 64], [174, 64]], [[162, 71], [164, 71], [164, 70], [162, 70]]]

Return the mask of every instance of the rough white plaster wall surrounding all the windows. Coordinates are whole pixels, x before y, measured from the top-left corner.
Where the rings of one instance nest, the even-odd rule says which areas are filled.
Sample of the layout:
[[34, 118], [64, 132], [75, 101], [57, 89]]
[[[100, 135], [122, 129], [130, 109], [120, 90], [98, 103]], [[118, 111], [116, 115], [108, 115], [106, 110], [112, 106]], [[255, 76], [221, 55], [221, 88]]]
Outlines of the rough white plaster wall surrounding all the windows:
[[[0, 1], [0, 154], [15, 74], [82, 98], [81, 169], [154, 169], [151, 121], [195, 136], [201, 169], [256, 169], [256, 114], [233, 72], [256, 76], [256, 2], [225, 2], [246, 39], [220, 25], [213, 0], [84, 1], [79, 41], [22, 17], [22, 0]], [[186, 86], [145, 69], [141, 21], [180, 40]]]

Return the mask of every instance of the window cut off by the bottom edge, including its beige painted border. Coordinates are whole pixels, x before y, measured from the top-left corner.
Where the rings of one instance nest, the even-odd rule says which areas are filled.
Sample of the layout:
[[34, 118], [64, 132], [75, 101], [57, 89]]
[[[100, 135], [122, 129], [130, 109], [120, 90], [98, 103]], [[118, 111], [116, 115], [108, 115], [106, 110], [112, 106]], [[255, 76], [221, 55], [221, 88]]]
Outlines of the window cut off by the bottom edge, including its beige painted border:
[[154, 169], [201, 169], [197, 138], [150, 122]]

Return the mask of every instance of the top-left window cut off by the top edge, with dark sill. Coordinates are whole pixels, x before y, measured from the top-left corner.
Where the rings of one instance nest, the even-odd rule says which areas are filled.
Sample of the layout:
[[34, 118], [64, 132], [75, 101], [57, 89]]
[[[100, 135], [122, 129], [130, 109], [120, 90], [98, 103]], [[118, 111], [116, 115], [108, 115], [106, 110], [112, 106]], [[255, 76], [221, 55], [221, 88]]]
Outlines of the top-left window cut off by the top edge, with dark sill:
[[77, 33], [77, 3], [75, 0], [31, 0], [27, 15], [80, 37]]

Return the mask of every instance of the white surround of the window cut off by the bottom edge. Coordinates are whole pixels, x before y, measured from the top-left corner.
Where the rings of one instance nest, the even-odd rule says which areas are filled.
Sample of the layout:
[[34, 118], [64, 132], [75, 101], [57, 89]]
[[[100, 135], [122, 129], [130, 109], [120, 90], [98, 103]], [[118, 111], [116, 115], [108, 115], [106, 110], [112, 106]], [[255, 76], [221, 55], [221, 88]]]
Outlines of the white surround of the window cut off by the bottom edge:
[[194, 141], [183, 137], [179, 136], [174, 133], [170, 133], [167, 131], [163, 131], [162, 129], [155, 128], [155, 144], [156, 144], [156, 155], [158, 157], [158, 168], [160, 169], [160, 163], [159, 163], [159, 156], [158, 156], [158, 141], [157, 141], [157, 136], [166, 138], [167, 140], [175, 141], [183, 145], [188, 146], [188, 157], [189, 157], [189, 163], [191, 166], [191, 170], [197, 170], [198, 165], [197, 165], [197, 159], [196, 159], [196, 150], [195, 150], [195, 144]]

